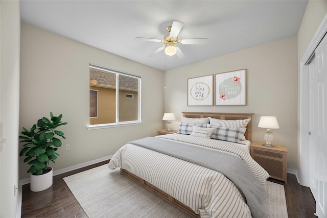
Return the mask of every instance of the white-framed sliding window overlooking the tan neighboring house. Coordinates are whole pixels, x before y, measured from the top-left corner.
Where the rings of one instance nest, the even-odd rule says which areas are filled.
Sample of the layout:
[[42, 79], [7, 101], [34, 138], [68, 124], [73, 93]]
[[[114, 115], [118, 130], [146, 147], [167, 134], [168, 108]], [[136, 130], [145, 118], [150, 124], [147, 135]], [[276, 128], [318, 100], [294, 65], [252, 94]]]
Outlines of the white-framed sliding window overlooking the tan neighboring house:
[[90, 64], [88, 129], [141, 123], [141, 77]]

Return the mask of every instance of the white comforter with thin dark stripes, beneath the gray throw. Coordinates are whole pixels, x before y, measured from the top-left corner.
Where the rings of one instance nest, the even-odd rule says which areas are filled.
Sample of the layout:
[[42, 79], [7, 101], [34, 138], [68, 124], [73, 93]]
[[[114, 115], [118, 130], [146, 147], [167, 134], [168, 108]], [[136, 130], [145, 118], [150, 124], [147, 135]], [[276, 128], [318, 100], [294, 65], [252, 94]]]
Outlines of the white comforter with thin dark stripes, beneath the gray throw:
[[[244, 161], [261, 184], [269, 177], [249, 152], [235, 143], [181, 134], [157, 137], [235, 155]], [[126, 144], [111, 158], [109, 168], [116, 167], [125, 168], [167, 192], [201, 217], [251, 217], [239, 188], [212, 169], [133, 144]]]

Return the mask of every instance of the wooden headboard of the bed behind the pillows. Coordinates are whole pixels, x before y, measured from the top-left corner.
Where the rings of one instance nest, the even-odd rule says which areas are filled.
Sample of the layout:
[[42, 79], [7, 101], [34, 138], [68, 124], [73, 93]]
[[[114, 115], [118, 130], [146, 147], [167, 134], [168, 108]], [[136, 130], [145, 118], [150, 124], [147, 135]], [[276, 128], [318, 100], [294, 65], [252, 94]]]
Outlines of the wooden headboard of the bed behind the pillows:
[[190, 118], [204, 118], [211, 116], [216, 119], [250, 119], [250, 122], [246, 126], [245, 138], [252, 141], [252, 115], [254, 113], [216, 113], [216, 112], [182, 112], [184, 117]]

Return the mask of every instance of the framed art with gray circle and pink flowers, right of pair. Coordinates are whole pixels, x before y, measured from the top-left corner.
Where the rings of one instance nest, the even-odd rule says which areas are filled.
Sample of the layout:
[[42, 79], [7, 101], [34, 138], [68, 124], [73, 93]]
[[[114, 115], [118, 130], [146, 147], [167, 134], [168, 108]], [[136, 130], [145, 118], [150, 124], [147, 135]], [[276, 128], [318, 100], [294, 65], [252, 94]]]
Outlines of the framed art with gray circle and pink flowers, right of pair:
[[246, 105], [246, 69], [216, 74], [216, 105]]

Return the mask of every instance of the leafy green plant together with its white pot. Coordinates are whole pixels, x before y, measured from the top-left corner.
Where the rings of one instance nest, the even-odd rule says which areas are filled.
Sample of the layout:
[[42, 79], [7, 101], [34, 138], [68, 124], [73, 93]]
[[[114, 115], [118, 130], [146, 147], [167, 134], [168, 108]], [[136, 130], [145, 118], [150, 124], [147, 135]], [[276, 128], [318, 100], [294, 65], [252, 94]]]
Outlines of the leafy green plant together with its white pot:
[[27, 173], [31, 173], [31, 190], [42, 191], [49, 188], [53, 183], [53, 171], [49, 162], [54, 163], [59, 154], [56, 152], [61, 147], [61, 140], [65, 138], [64, 133], [55, 130], [57, 127], [66, 125], [62, 123], [62, 114], [54, 116], [50, 112], [51, 119], [43, 117], [37, 120], [30, 130], [22, 128], [20, 142], [26, 142], [19, 153], [19, 156], [26, 156], [24, 162], [31, 165]]

